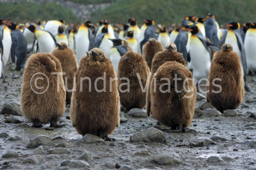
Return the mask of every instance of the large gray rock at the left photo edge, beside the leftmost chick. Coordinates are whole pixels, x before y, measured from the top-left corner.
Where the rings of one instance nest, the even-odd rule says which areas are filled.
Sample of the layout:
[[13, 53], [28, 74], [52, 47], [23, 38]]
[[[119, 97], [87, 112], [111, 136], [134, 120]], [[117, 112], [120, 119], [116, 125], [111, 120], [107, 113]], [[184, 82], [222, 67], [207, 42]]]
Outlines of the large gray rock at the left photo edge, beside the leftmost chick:
[[0, 114], [12, 114], [15, 116], [21, 116], [20, 102], [17, 100], [10, 100], [3, 104]]

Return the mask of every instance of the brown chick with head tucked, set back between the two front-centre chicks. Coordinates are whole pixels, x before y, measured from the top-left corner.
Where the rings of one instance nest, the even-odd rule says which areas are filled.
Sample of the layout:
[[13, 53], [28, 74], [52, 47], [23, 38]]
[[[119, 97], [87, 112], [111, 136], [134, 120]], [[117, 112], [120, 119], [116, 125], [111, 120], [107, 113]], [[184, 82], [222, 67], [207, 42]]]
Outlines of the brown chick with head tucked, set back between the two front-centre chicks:
[[[148, 65], [140, 54], [128, 51], [121, 57], [118, 64], [119, 96], [121, 105], [125, 107], [127, 111], [132, 108], [143, 109], [145, 107], [146, 93], [142, 88], [145, 88], [148, 75]], [[127, 79], [129, 79], [129, 83], [127, 83]], [[129, 86], [127, 84], [129, 84]]]

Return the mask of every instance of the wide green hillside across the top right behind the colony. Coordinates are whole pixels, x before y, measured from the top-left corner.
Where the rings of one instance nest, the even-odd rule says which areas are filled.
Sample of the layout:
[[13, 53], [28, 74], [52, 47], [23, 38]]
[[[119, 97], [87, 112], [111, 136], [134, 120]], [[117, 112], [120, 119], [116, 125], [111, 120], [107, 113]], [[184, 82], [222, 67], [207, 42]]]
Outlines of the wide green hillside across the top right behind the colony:
[[140, 23], [148, 18], [170, 25], [180, 23], [185, 15], [205, 17], [211, 12], [219, 23], [246, 22], [255, 21], [255, 9], [256, 0], [126, 0], [93, 12], [91, 20], [108, 18], [112, 23], [126, 23], [129, 17], [135, 17]]

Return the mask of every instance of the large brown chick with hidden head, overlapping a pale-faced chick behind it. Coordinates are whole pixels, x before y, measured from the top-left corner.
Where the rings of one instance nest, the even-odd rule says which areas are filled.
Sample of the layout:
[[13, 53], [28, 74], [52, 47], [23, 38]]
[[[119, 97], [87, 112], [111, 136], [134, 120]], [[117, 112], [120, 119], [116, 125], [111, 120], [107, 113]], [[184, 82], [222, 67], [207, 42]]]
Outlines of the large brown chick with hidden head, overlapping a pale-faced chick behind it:
[[[175, 75], [179, 78], [176, 83]], [[197, 93], [189, 69], [176, 61], [164, 63], [151, 79], [150, 93], [153, 118], [173, 130], [186, 132], [194, 116]]]

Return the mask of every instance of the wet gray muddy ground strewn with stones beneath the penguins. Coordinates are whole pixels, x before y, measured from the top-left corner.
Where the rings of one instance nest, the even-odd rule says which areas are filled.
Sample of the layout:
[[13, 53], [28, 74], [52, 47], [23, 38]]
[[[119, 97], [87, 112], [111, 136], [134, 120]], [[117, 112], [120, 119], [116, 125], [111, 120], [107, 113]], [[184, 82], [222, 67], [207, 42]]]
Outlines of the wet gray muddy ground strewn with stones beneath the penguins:
[[[0, 108], [3, 103], [11, 99], [20, 100], [20, 88], [22, 75], [20, 72], [9, 71], [6, 83], [0, 79]], [[128, 121], [121, 125], [110, 136], [116, 141], [101, 143], [74, 143], [81, 139], [75, 128], [66, 118], [69, 115], [69, 108], [61, 119], [65, 127], [45, 130], [49, 124], [42, 128], [33, 128], [31, 123], [5, 123], [6, 118], [11, 115], [0, 115], [0, 133], [7, 133], [9, 136], [19, 136], [20, 140], [7, 141], [9, 136], [0, 138], [0, 168], [2, 169], [68, 169], [67, 166], [60, 166], [61, 161], [77, 160], [77, 158], [88, 151], [87, 162], [93, 170], [115, 168], [116, 164], [121, 167], [127, 165], [131, 169], [250, 169], [256, 170], [256, 77], [248, 77], [252, 93], [245, 93], [241, 106], [236, 109], [233, 116], [209, 116], [197, 109], [191, 126], [192, 130], [186, 133], [164, 132], [167, 144], [130, 142], [130, 136], [141, 130], [153, 127], [156, 121], [152, 118], [136, 118], [127, 116]], [[200, 108], [205, 99], [198, 97], [196, 107]], [[53, 101], [54, 102], [54, 101]], [[203, 114], [203, 115], [201, 115]], [[23, 117], [23, 116], [22, 116]], [[251, 124], [248, 124], [251, 123]], [[16, 127], [22, 124], [21, 127]], [[28, 127], [29, 125], [30, 127]], [[54, 146], [45, 146], [41, 153], [43, 160], [38, 162], [26, 162], [27, 157], [34, 155], [35, 148], [26, 148], [29, 140], [38, 135], [46, 135], [50, 138], [61, 136], [63, 139], [53, 141], [54, 144], [67, 141], [68, 154], [49, 154], [47, 150]], [[198, 140], [211, 139], [212, 136], [220, 136], [221, 140], [214, 140], [210, 143], [198, 143]], [[212, 138], [213, 139], [213, 138]], [[193, 144], [194, 143], [194, 144]], [[197, 145], [198, 144], [198, 145]], [[17, 152], [17, 157], [3, 158], [7, 151]], [[161, 161], [152, 161], [156, 155], [179, 156], [179, 162], [165, 164]], [[210, 156], [212, 159], [208, 159]], [[164, 159], [164, 158], [163, 158]], [[117, 167], [119, 167], [117, 165]], [[126, 167], [126, 168], [128, 168]], [[75, 169], [75, 167], [70, 167]], [[125, 167], [123, 167], [125, 169]]]

